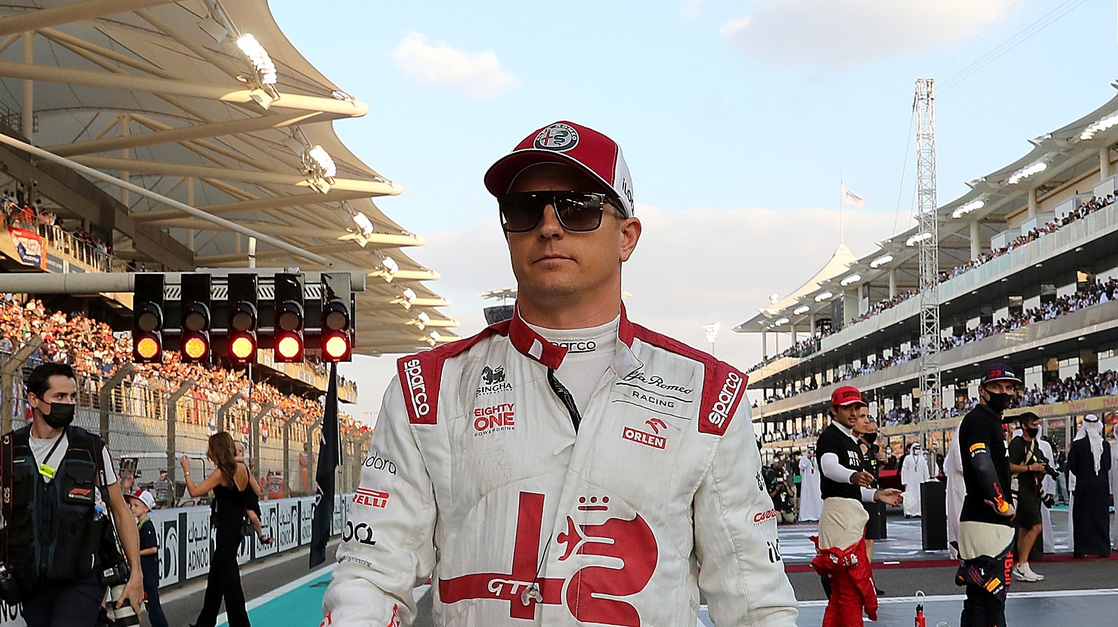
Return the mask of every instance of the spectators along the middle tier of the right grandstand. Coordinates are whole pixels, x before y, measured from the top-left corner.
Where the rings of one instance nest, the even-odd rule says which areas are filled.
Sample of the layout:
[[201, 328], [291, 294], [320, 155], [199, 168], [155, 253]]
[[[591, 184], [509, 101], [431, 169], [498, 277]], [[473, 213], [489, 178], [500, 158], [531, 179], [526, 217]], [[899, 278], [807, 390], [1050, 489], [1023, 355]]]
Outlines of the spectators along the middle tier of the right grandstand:
[[[1118, 278], [1111, 278], [1110, 281], [1095, 281], [1089, 283], [1077, 291], [1074, 294], [1069, 294], [1065, 296], [1060, 296], [1054, 301], [1042, 303], [1041, 305], [1030, 308], [1027, 311], [1022, 311], [1017, 314], [1011, 314], [1008, 317], [998, 320], [996, 322], [988, 322], [979, 324], [974, 329], [969, 329], [959, 334], [953, 334], [949, 338], [945, 338], [939, 345], [939, 350], [949, 351], [951, 349], [961, 346], [964, 344], [969, 344], [972, 342], [977, 342], [984, 340], [992, 335], [997, 335], [999, 333], [1007, 333], [1016, 329], [1021, 329], [1027, 324], [1033, 324], [1036, 322], [1042, 322], [1045, 320], [1052, 320], [1059, 317], [1062, 314], [1071, 313], [1083, 307], [1091, 305], [1097, 305], [1100, 303], [1107, 303], [1115, 298], [1116, 293], [1118, 293]], [[862, 374], [869, 374], [871, 372], [877, 372], [879, 370], [884, 370], [907, 361], [912, 361], [918, 359], [921, 354], [921, 349], [919, 345], [910, 346], [908, 350], [899, 351], [897, 354], [888, 359], [878, 359], [875, 361], [862, 363], [860, 365], [851, 367], [843, 365], [839, 371], [839, 377], [834, 381], [826, 381], [823, 383], [824, 387], [831, 386], [841, 381], [847, 381], [855, 377]], [[775, 393], [770, 393], [767, 398], [768, 401], [773, 400], [784, 400], [786, 398], [794, 397], [798, 393], [818, 389], [813, 379], [806, 386], [800, 389], [786, 388], [784, 390], [777, 390]], [[1093, 396], [1093, 395], [1092, 395]]]

